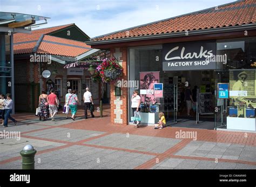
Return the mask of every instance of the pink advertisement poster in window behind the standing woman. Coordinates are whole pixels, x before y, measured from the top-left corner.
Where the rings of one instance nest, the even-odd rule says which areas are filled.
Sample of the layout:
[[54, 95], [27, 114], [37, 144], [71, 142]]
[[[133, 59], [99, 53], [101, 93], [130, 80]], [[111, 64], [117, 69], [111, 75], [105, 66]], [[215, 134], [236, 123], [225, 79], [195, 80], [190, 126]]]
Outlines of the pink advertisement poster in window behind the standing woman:
[[139, 79], [142, 102], [156, 103], [154, 84], [159, 83], [159, 72], [140, 72]]

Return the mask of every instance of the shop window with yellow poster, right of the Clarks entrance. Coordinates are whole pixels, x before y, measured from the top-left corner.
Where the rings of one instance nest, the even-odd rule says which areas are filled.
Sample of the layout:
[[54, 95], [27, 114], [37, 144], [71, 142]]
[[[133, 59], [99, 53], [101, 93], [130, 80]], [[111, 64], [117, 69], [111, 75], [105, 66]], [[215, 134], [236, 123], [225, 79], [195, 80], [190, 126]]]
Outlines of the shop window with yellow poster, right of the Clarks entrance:
[[[217, 42], [217, 54], [226, 54], [218, 83], [229, 84], [229, 98], [219, 99], [221, 128], [255, 131], [256, 38]], [[241, 121], [242, 120], [242, 121]], [[221, 121], [221, 125], [220, 125]], [[218, 125], [217, 125], [218, 127]]]

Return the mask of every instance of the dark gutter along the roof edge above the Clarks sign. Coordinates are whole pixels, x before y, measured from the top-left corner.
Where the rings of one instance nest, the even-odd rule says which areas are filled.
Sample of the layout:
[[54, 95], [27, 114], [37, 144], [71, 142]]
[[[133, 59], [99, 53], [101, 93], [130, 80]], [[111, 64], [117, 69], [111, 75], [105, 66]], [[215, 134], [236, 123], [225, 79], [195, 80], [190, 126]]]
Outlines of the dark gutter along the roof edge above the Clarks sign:
[[201, 35], [201, 34], [246, 31], [246, 30], [253, 30], [253, 29], [256, 29], [256, 23], [239, 25], [239, 26], [231, 26], [231, 27], [219, 27], [219, 28], [214, 28], [214, 29], [182, 31], [182, 32], [164, 33], [164, 34], [151, 34], [151, 35], [146, 35], [146, 36], [116, 38], [116, 39], [107, 39], [107, 40], [99, 40], [99, 41], [97, 41], [97, 40], [96, 41], [86, 41], [85, 43], [87, 45], [100, 45], [100, 44], [111, 44], [111, 43], [135, 41], [135, 40], [138, 41], [138, 40], [149, 40], [149, 39], [196, 36], [196, 35]]

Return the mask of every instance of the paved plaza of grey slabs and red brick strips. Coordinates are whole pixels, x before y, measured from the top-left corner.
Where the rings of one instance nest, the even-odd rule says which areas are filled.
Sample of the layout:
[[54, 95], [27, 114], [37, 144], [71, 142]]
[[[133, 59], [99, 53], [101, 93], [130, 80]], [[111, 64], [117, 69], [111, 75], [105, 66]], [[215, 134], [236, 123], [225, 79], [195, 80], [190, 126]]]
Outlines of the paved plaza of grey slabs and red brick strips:
[[[35, 169], [256, 169], [256, 134], [221, 130], [110, 124], [104, 117], [76, 121], [58, 115], [39, 121], [32, 114], [15, 115], [3, 131], [19, 138], [0, 139], [0, 169], [22, 169], [19, 152], [26, 144], [36, 150]], [[196, 131], [193, 138], [177, 132]]]

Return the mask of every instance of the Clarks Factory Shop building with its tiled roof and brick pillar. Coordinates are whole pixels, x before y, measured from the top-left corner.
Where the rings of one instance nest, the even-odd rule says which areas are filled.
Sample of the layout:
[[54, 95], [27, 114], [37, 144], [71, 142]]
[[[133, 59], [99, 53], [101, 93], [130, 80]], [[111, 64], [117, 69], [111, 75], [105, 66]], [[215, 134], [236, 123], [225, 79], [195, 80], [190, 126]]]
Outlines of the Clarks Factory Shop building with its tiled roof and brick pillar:
[[[156, 123], [164, 112], [170, 126], [255, 131], [255, 7], [254, 1], [233, 2], [86, 43], [110, 50], [124, 68], [122, 79], [138, 82], [143, 123]], [[191, 118], [184, 114], [188, 84], [198, 87]], [[137, 88], [122, 87], [116, 96], [116, 86], [111, 84], [111, 122], [131, 124]]]

